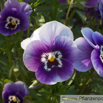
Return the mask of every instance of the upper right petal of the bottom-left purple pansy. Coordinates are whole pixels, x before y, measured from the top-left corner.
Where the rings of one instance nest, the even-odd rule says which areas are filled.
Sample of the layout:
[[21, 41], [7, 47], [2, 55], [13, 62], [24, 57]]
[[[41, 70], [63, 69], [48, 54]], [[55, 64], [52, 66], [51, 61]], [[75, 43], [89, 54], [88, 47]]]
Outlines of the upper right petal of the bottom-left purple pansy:
[[24, 97], [25, 95], [29, 95], [29, 91], [27, 89], [27, 86], [24, 82], [22, 81], [17, 81], [15, 82], [17, 87], [19, 88], [19, 93]]

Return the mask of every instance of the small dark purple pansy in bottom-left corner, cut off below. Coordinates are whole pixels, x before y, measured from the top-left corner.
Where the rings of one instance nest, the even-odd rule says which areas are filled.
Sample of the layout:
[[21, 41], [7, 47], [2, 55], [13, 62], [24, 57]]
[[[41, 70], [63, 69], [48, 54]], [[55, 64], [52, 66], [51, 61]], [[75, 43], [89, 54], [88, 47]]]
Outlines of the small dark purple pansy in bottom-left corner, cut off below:
[[4, 103], [24, 103], [23, 97], [28, 94], [29, 92], [24, 82], [9, 82], [4, 85], [2, 98]]

